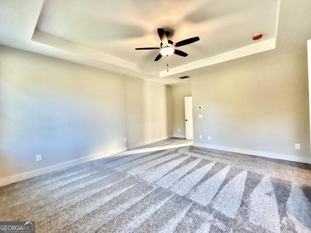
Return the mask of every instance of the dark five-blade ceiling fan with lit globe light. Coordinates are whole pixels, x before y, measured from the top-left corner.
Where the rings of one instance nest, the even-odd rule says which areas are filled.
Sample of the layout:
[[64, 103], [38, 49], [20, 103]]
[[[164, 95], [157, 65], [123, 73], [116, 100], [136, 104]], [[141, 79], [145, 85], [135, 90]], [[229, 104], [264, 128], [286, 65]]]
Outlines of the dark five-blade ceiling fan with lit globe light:
[[199, 36], [196, 36], [196, 37], [192, 37], [186, 40], [179, 41], [174, 44], [172, 40], [169, 40], [167, 38], [170, 32], [165, 32], [163, 28], [158, 28], [157, 33], [159, 34], [159, 37], [161, 39], [160, 47], [136, 48], [135, 49], [135, 50], [160, 50], [160, 54], [157, 55], [157, 57], [155, 58], [155, 61], [158, 61], [162, 56], [170, 56], [173, 53], [179, 56], [182, 56], [182, 57], [187, 57], [188, 53], [183, 52], [181, 50], [176, 50], [175, 48], [188, 45], [188, 44], [191, 44], [193, 42], [200, 40]]

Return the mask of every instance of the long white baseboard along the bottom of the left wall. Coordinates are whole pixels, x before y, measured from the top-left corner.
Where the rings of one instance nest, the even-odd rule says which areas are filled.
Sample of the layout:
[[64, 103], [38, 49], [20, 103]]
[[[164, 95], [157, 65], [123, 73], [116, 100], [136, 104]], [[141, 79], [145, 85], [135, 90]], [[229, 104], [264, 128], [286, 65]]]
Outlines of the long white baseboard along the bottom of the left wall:
[[90, 155], [90, 156], [87, 156], [87, 157], [84, 157], [84, 158], [80, 158], [80, 159], [76, 159], [76, 160], [71, 160], [71, 161], [68, 161], [68, 162], [65, 162], [65, 163], [56, 164], [56, 165], [53, 165], [53, 166], [47, 166], [47, 167], [43, 167], [43, 168], [40, 168], [40, 169], [37, 169], [37, 170], [32, 170], [32, 171], [28, 171], [28, 172], [25, 172], [25, 173], [20, 173], [20, 174], [14, 175], [14, 176], [5, 177], [5, 178], [0, 179], [0, 186], [4, 186], [4, 185], [10, 184], [10, 183], [15, 183], [15, 182], [18, 182], [18, 181], [26, 180], [26, 179], [29, 179], [29, 178], [32, 178], [32, 177], [35, 177], [35, 176], [43, 175], [43, 174], [46, 174], [48, 172], [56, 171], [56, 170], [63, 169], [63, 168], [69, 167], [69, 166], [75, 166], [75, 165], [86, 163], [86, 162], [89, 162], [89, 161], [92, 161], [92, 160], [104, 158], [104, 157], [107, 157], [107, 156], [110, 156], [110, 155], [113, 155], [113, 154], [121, 153], [123, 151], [130, 150], [130, 149], [133, 149], [133, 148], [145, 146], [145, 145], [148, 145], [150, 143], [161, 141], [161, 140], [164, 140], [164, 139], [167, 139], [167, 138], [170, 138], [170, 137], [173, 137], [173, 135], [164, 136], [164, 137], [161, 137], [161, 138], [157, 138], [157, 139], [141, 142], [141, 143], [138, 143], [138, 144], [135, 144], [135, 145], [127, 146], [127, 147], [122, 147], [122, 148], [118, 148], [118, 149], [114, 149], [114, 150], [104, 151], [104, 152], [101, 152], [101, 153], [98, 153], [98, 154], [93, 154], [93, 155]]

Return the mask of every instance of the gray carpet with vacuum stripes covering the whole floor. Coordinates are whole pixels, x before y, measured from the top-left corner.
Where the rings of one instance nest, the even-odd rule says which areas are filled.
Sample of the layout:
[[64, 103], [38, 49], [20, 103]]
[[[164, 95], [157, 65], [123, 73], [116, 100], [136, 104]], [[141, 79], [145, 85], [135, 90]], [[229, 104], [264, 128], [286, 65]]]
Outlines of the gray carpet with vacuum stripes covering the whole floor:
[[0, 187], [36, 233], [311, 233], [311, 165], [167, 139]]

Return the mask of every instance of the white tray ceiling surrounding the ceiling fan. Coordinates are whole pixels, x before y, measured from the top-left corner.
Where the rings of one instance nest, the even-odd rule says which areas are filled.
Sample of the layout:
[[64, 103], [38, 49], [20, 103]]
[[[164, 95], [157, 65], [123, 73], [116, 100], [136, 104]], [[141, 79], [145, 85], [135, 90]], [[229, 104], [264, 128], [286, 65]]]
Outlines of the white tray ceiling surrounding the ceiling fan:
[[[0, 0], [0, 44], [174, 84], [214, 64], [306, 43], [310, 10], [310, 0]], [[159, 47], [157, 28], [173, 42], [200, 40], [179, 47], [187, 57], [154, 62], [159, 50], [135, 48]]]

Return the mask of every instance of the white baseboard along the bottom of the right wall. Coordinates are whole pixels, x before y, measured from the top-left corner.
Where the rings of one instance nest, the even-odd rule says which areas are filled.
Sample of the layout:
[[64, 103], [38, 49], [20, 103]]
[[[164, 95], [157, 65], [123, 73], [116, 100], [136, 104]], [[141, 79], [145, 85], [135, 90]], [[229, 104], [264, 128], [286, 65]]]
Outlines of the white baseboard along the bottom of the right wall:
[[301, 156], [296, 156], [296, 155], [279, 154], [279, 153], [265, 152], [265, 151], [259, 151], [259, 150], [222, 147], [222, 146], [210, 145], [210, 144], [205, 144], [205, 143], [193, 143], [193, 146], [214, 149], [214, 150], [224, 150], [224, 151], [241, 153], [241, 154], [255, 155], [255, 156], [261, 156], [261, 157], [272, 158], [272, 159], [281, 159], [281, 160], [288, 160], [288, 161], [293, 161], [293, 162], [311, 164], [311, 158], [301, 157]]

